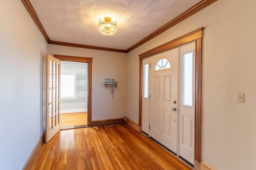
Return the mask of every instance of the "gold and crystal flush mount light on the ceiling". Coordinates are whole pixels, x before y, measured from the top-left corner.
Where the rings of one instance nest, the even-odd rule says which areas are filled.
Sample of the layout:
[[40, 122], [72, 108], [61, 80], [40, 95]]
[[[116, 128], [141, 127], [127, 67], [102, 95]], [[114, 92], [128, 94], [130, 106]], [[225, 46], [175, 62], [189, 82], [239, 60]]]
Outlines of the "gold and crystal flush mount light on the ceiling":
[[116, 33], [117, 21], [112, 22], [110, 17], [105, 17], [104, 21], [101, 21], [101, 19], [99, 19], [99, 21], [100, 33], [107, 36], [114, 35]]

